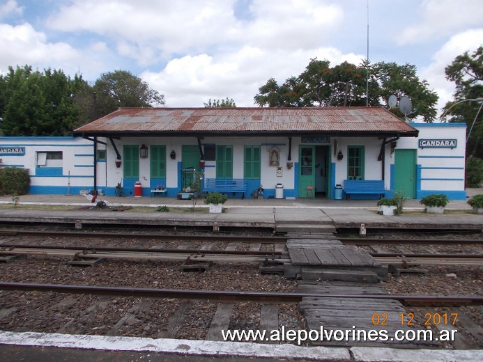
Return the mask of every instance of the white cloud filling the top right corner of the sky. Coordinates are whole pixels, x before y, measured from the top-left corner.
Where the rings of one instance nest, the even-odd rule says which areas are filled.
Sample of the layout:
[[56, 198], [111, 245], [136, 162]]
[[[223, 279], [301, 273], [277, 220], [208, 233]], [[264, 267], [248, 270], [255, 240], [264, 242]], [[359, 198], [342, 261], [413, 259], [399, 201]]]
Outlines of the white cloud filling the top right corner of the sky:
[[[446, 37], [482, 24], [483, 2], [481, 0], [425, 0], [420, 6], [421, 19], [407, 26], [399, 36], [399, 43], [416, 44]], [[408, 19], [411, 22], [411, 19]]]

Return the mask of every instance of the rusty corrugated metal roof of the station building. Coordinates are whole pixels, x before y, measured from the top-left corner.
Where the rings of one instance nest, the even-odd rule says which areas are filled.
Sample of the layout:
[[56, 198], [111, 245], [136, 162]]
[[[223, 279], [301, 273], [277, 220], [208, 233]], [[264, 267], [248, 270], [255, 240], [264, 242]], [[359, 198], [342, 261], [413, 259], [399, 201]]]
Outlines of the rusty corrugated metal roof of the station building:
[[417, 130], [380, 107], [121, 108], [75, 134], [394, 133]]

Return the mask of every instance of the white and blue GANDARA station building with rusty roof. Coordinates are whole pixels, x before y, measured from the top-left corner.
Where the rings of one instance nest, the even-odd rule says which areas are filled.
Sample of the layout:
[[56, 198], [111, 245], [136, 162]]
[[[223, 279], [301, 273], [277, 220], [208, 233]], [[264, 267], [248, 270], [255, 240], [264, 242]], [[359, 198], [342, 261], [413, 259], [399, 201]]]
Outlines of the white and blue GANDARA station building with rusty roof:
[[406, 123], [379, 107], [118, 109], [74, 136], [1, 137], [2, 165], [29, 168], [32, 194], [112, 196], [120, 184], [125, 196], [179, 198], [199, 177], [201, 192], [242, 182], [229, 198], [260, 187], [264, 198], [345, 198], [346, 180], [466, 198], [466, 125]]

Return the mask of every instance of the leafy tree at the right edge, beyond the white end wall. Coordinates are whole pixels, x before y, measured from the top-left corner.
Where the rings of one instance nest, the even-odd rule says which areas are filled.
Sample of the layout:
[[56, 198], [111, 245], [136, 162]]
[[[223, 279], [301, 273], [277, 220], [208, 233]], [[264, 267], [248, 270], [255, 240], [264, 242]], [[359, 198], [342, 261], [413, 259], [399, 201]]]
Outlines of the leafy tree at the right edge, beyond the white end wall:
[[[483, 158], [483, 123], [480, 102], [463, 102], [479, 98], [483, 95], [483, 47], [469, 54], [465, 52], [454, 58], [445, 68], [446, 79], [454, 81], [456, 91], [454, 101], [447, 102], [443, 109], [445, 119], [450, 122], [463, 122], [468, 125], [467, 132], [471, 134], [466, 144], [466, 155]], [[480, 122], [478, 122], [480, 121]]]

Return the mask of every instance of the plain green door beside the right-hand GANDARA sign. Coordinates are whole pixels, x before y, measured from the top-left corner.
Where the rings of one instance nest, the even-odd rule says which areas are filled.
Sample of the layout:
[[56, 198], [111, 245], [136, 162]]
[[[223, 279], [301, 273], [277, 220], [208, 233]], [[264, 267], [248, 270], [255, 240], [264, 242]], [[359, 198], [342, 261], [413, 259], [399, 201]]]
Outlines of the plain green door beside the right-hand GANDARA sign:
[[394, 152], [394, 192], [416, 197], [416, 150]]

